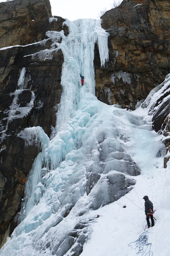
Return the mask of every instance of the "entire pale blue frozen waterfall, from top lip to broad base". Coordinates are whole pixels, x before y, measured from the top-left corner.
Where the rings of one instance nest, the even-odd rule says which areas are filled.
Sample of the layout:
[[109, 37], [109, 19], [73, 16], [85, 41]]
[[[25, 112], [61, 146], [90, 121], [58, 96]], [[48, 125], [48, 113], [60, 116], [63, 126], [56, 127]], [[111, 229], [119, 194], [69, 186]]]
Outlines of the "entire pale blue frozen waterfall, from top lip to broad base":
[[[93, 210], [132, 189], [134, 176], [140, 174], [134, 162], [140, 154], [143, 173], [151, 150], [156, 164], [157, 152], [163, 148], [143, 116], [108, 106], [94, 95], [95, 42], [101, 65], [108, 59], [108, 35], [100, 20], [67, 20], [66, 24], [67, 37], [63, 32], [47, 32], [53, 42], [51, 52], [61, 49], [64, 54], [63, 94], [55, 133], [49, 139], [42, 128], [33, 127], [18, 135], [27, 143], [36, 137], [42, 152], [27, 179], [21, 223], [0, 256], [80, 255], [95, 222]], [[141, 140], [147, 133], [154, 150], [147, 147], [147, 139], [141, 146], [141, 141], [136, 142], [138, 132]]]

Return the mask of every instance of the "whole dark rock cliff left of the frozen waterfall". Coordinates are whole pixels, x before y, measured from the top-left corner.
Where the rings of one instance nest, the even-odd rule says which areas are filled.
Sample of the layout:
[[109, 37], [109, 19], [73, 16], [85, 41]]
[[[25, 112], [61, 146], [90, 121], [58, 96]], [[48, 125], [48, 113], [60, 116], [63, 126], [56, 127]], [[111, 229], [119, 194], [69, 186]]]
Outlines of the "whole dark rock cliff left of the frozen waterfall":
[[25, 181], [40, 152], [18, 133], [40, 126], [49, 136], [56, 123], [63, 53], [48, 56], [52, 42], [45, 32], [68, 30], [64, 19], [51, 16], [49, 0], [0, 3], [0, 243], [16, 226]]

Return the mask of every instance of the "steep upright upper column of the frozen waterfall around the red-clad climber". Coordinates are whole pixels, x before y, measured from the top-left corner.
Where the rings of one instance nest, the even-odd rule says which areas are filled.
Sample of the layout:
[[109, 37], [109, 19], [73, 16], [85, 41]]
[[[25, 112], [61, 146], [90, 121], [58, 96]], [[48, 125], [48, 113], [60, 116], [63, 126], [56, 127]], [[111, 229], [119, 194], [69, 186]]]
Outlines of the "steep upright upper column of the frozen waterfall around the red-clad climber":
[[64, 54], [61, 83], [63, 94], [57, 115], [57, 131], [77, 109], [81, 94], [81, 75], [84, 90], [95, 94], [94, 46], [98, 44], [101, 66], [108, 60], [108, 33], [101, 27], [101, 20], [78, 19], [66, 21], [69, 34], [63, 38], [60, 48]]

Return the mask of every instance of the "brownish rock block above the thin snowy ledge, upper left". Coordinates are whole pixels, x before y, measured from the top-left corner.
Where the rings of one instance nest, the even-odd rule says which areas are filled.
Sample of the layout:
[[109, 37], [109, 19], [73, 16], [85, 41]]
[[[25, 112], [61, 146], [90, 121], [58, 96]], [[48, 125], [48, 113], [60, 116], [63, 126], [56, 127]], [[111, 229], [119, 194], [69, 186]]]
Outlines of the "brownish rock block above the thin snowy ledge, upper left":
[[48, 17], [52, 17], [49, 0], [0, 3], [0, 48], [43, 40]]

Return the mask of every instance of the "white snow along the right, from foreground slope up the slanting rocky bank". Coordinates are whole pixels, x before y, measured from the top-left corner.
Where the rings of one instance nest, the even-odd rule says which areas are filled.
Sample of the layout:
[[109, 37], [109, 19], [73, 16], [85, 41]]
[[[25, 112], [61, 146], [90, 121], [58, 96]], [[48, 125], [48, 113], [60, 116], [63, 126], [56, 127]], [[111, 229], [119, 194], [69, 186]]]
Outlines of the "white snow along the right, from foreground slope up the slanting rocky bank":
[[[133, 114], [143, 116], [147, 120], [146, 125], [150, 124], [152, 115], [163, 103], [153, 106], [169, 86], [170, 74]], [[170, 98], [170, 94], [167, 97]], [[141, 152], [137, 158], [143, 168], [141, 175], [134, 177], [137, 181], [134, 190], [94, 213], [100, 217], [94, 223], [92, 236], [81, 256], [170, 256], [170, 162], [164, 169], [163, 158], [152, 155], [154, 143], [150, 141], [151, 133], [148, 137], [143, 133], [139, 138]], [[160, 135], [155, 138], [161, 141], [166, 137]], [[144, 166], [147, 162], [149, 165]], [[155, 209], [155, 226], [150, 229], [145, 219], [144, 195], [149, 196]]]

